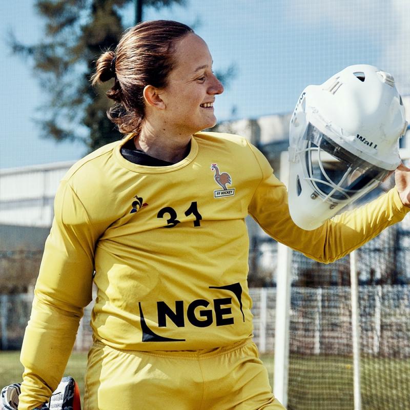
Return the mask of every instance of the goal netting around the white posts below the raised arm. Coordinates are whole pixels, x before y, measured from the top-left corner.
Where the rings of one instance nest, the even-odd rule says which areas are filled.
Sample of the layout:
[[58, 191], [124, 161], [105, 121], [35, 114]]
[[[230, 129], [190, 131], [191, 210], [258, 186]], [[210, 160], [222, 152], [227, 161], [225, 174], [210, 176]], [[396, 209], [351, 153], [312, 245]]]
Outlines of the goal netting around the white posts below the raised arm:
[[292, 253], [288, 410], [351, 410], [355, 383], [363, 410], [410, 408], [409, 234], [402, 222], [356, 251], [358, 380], [350, 258]]

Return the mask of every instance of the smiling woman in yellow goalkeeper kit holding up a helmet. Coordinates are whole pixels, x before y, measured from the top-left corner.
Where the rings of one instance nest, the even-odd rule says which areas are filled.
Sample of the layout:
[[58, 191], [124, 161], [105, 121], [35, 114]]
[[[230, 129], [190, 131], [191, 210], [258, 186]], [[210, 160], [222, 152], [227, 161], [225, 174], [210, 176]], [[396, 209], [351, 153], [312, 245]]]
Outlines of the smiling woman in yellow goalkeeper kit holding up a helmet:
[[61, 379], [92, 281], [86, 410], [283, 409], [252, 342], [245, 216], [329, 262], [404, 217], [406, 171], [397, 189], [305, 232], [258, 150], [199, 132], [215, 125], [223, 87], [189, 27], [132, 28], [97, 61], [93, 84], [111, 78], [109, 117], [126, 136], [77, 162], [58, 189], [18, 409], [47, 401]]

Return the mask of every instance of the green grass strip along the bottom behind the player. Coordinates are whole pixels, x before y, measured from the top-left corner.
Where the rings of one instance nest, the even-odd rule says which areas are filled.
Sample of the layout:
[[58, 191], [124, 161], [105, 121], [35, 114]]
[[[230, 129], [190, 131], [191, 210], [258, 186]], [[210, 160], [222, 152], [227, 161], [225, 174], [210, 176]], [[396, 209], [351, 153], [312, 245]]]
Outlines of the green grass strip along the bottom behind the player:
[[[273, 354], [261, 355], [273, 383]], [[66, 375], [77, 381], [84, 396], [87, 353], [73, 353]], [[19, 352], [0, 351], [0, 388], [22, 379]], [[362, 409], [410, 408], [410, 359], [362, 358]], [[351, 358], [296, 356], [290, 360], [288, 410], [351, 410], [353, 369]]]

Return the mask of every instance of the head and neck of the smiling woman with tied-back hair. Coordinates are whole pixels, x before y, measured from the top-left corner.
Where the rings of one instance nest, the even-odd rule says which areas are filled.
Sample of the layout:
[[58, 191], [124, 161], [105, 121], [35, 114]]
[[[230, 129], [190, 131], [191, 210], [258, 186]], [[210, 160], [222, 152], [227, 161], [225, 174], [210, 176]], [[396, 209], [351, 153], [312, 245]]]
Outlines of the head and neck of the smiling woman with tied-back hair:
[[107, 95], [119, 105], [109, 117], [152, 157], [178, 162], [192, 135], [216, 124], [213, 103], [223, 87], [207, 44], [186, 25], [158, 20], [129, 30], [98, 59], [93, 84], [112, 77]]

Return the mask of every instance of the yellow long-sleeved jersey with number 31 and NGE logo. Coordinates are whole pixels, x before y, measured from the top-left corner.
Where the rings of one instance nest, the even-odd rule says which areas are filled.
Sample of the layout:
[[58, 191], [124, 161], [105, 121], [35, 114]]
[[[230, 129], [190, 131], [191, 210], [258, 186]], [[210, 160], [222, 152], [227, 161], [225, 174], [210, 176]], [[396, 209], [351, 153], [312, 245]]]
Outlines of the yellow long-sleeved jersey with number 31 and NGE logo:
[[400, 221], [396, 189], [303, 231], [284, 185], [242, 137], [201, 132], [174, 165], [136, 165], [120, 149], [78, 161], [61, 181], [21, 361], [19, 410], [48, 399], [63, 375], [83, 308], [97, 297], [96, 339], [139, 351], [197, 350], [252, 337], [250, 214], [274, 239], [332, 262]]

